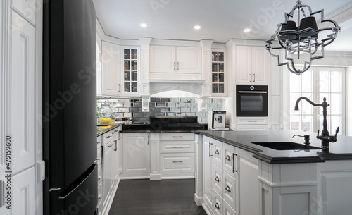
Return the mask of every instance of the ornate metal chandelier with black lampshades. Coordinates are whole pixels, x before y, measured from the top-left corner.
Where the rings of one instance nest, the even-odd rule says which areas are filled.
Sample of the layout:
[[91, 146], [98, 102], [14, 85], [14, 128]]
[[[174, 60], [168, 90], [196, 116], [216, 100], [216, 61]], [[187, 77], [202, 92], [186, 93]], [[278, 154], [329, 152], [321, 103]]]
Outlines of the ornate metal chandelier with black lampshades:
[[[332, 23], [333, 26], [318, 29], [315, 17], [313, 16], [317, 13], [320, 13], [321, 23]], [[306, 14], [308, 14], [308, 16], [306, 16]], [[298, 26], [296, 26], [294, 20], [290, 20], [294, 18], [294, 15], [297, 16]], [[329, 33], [326, 38], [318, 41], [318, 33], [328, 30], [330, 30], [331, 33]], [[310, 68], [313, 60], [324, 57], [324, 47], [331, 44], [334, 39], [336, 39], [337, 32], [340, 30], [341, 27], [337, 25], [334, 20], [324, 19], [324, 9], [312, 13], [310, 6], [304, 5], [298, 0], [291, 12], [285, 13], [284, 23], [277, 25], [277, 30], [271, 36], [271, 39], [265, 41], [265, 46], [272, 56], [277, 57], [277, 66], [287, 65], [291, 73], [301, 75], [301, 73]], [[277, 44], [277, 46], [274, 47], [273, 43]], [[284, 58], [287, 61], [280, 62], [279, 54], [272, 53], [274, 49], [284, 49]], [[320, 54], [317, 53], [318, 49], [320, 49]], [[292, 56], [292, 54], [296, 55]], [[294, 58], [298, 60], [301, 55], [304, 56], [306, 54], [308, 54], [308, 56], [306, 56], [306, 59], [303, 59], [303, 68], [297, 69], [294, 64]]]

